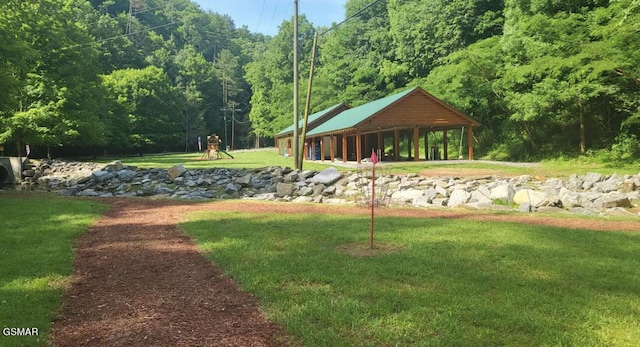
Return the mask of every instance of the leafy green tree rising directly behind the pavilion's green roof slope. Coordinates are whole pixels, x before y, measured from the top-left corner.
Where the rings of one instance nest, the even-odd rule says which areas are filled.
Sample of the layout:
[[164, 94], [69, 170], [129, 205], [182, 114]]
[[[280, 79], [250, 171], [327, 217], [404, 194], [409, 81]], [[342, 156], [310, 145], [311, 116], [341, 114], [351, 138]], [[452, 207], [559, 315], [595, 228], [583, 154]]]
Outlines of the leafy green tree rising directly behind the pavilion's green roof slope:
[[322, 108], [363, 104], [406, 83], [394, 59], [386, 3], [367, 8], [370, 3], [347, 1], [346, 15], [352, 18], [321, 38], [313, 98], [322, 101]]

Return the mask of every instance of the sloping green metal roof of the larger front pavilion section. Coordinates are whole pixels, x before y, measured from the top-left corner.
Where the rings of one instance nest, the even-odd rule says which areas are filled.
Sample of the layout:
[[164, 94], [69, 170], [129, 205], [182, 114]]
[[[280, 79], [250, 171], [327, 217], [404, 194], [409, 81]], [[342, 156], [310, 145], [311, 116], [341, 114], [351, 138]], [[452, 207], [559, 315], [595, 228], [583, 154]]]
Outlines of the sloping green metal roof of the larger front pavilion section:
[[[332, 132], [332, 131], [353, 128], [356, 125], [367, 120], [369, 117], [387, 108], [394, 102], [407, 96], [408, 94], [410, 94], [416, 89], [418, 89], [418, 87], [414, 87], [414, 88], [405, 90], [403, 92], [389, 95], [382, 99], [378, 99], [370, 103], [342, 111], [335, 117], [329, 119], [328, 121], [322, 123], [315, 129], [309, 131], [307, 135], [312, 136], [312, 135], [318, 135], [318, 134]], [[291, 129], [293, 130], [293, 127], [291, 127]]]

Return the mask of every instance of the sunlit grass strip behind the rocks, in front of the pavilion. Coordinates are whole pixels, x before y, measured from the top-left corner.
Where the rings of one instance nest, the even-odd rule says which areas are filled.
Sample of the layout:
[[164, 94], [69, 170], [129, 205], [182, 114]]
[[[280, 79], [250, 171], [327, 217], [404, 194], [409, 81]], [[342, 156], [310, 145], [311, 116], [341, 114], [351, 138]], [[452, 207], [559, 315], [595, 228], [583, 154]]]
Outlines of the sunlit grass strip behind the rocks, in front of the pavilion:
[[[235, 157], [234, 159], [221, 159], [221, 160], [200, 160], [200, 153], [186, 153], [186, 154], [168, 154], [168, 155], [148, 155], [142, 157], [127, 157], [127, 158], [105, 158], [102, 162], [108, 162], [115, 159], [121, 159], [122, 162], [135, 165], [141, 168], [168, 168], [176, 164], [182, 164], [186, 168], [235, 168], [235, 169], [252, 169], [262, 168], [266, 166], [281, 166], [281, 167], [294, 167], [292, 158], [286, 158], [278, 155], [275, 149], [259, 150], [259, 151], [236, 151], [231, 152]], [[619, 174], [637, 174], [638, 163], [629, 163], [625, 166], [608, 167], [604, 164], [597, 164], [593, 162], [579, 161], [579, 160], [554, 160], [538, 163], [533, 166], [513, 166], [500, 163], [489, 163], [482, 161], [458, 161], [451, 160], [450, 163], [434, 163], [428, 161], [413, 162], [384, 162], [389, 171], [396, 174], [407, 173], [420, 173], [429, 168], [448, 168], [452, 175], [460, 170], [474, 171], [474, 170], [490, 170], [496, 173], [502, 173], [504, 175], [531, 175], [538, 177], [568, 177], [572, 174], [582, 175], [587, 172], [599, 172], [602, 174], [611, 174], [617, 172]], [[340, 170], [353, 171], [355, 167], [353, 165], [349, 167], [342, 167], [341, 162], [332, 164], [330, 161], [324, 163], [320, 161], [304, 162], [305, 170], [323, 170], [328, 166], [339, 166]]]

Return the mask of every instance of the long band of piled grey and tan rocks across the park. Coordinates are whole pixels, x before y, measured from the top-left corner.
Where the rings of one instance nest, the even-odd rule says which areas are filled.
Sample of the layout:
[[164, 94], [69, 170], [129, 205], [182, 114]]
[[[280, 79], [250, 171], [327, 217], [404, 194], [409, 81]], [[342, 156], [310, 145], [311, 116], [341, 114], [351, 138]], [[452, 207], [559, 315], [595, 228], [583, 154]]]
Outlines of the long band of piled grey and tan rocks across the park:
[[[138, 196], [180, 199], [258, 199], [354, 203], [362, 201], [369, 178], [330, 167], [322, 172], [291, 168], [138, 169], [116, 161], [96, 163], [42, 161], [23, 173], [35, 189], [69, 196]], [[523, 212], [638, 215], [640, 173], [588, 173], [544, 182], [530, 176], [503, 178], [439, 177], [417, 174], [378, 177], [392, 205], [422, 208], [486, 208]]]

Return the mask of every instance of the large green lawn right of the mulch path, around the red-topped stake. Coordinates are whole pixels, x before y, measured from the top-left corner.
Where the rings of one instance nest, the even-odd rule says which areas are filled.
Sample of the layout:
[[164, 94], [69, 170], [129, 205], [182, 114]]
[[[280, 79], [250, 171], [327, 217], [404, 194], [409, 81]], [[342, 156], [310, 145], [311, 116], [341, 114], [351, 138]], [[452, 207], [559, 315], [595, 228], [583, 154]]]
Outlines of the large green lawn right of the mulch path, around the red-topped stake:
[[213, 262], [305, 346], [636, 346], [640, 234], [196, 213]]

